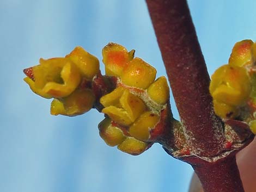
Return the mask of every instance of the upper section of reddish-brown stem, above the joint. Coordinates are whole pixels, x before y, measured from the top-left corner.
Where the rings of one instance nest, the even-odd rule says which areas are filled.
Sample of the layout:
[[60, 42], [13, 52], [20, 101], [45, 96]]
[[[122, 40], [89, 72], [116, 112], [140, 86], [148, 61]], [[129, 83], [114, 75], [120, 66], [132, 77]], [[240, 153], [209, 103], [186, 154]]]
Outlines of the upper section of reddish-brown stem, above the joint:
[[214, 156], [223, 147], [223, 123], [212, 108], [210, 78], [187, 3], [147, 3], [188, 144], [199, 156]]

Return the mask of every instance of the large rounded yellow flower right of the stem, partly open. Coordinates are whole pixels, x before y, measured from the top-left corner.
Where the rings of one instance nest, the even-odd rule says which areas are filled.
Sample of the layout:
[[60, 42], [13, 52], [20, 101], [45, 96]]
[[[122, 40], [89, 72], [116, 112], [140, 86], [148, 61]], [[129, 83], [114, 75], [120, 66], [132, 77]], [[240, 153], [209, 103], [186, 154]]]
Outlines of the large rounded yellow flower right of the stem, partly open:
[[210, 93], [214, 100], [231, 106], [245, 104], [251, 83], [246, 69], [224, 65], [211, 76]]

